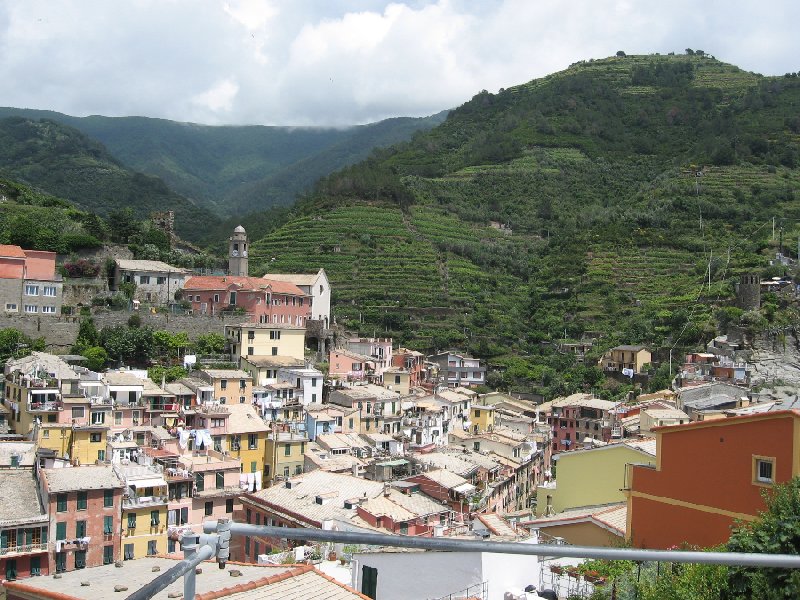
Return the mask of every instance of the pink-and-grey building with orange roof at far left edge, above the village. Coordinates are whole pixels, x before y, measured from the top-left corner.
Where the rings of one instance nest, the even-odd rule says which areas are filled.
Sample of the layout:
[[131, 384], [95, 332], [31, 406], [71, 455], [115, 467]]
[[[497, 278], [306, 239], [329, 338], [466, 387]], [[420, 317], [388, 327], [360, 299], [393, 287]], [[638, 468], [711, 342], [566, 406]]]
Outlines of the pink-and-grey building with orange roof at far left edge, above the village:
[[62, 287], [55, 252], [0, 244], [0, 310], [60, 315]]

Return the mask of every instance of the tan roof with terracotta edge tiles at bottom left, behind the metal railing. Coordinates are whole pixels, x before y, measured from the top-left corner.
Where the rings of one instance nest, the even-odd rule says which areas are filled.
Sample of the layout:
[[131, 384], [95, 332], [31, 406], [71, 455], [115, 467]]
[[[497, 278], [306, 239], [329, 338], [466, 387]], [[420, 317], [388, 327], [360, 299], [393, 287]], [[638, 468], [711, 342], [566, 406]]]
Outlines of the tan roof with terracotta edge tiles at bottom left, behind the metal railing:
[[[154, 567], [160, 567], [163, 574], [175, 563], [174, 558], [147, 557], [124, 561], [120, 568], [110, 564], [62, 573], [60, 579], [33, 577], [5, 585], [14, 591], [37, 594], [39, 598], [61, 600], [112, 598], [115, 595], [125, 596], [133, 593], [151, 582], [159, 575], [153, 572]], [[218, 569], [216, 564], [206, 562], [201, 567], [202, 573], [196, 577], [197, 600], [212, 598], [363, 600], [366, 598], [310, 565], [252, 565], [229, 562], [228, 568], [222, 570]], [[231, 571], [234, 569], [241, 572], [240, 577], [231, 577]], [[88, 585], [85, 585], [87, 583]], [[114, 586], [120, 583], [128, 587], [127, 593], [114, 593]], [[182, 591], [183, 578], [180, 578], [152, 597], [155, 600], [166, 600], [170, 594]]]

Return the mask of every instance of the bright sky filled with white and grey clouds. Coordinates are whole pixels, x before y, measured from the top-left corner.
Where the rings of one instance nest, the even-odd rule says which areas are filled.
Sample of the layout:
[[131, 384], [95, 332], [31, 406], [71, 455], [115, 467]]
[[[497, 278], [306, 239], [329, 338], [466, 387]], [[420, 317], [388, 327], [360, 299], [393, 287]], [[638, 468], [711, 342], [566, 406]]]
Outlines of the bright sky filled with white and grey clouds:
[[800, 70], [794, 0], [0, 0], [0, 106], [347, 126], [623, 50]]

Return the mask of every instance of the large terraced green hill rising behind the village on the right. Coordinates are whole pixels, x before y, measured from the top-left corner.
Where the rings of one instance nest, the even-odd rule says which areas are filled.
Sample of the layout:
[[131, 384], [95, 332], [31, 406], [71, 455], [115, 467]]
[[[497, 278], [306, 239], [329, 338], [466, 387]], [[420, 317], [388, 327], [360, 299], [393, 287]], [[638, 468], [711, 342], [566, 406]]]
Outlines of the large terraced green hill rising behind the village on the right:
[[739, 273], [782, 274], [773, 218], [792, 247], [800, 235], [798, 107], [795, 74], [702, 53], [581, 62], [323, 179], [251, 269], [324, 267], [337, 318], [364, 334], [581, 389], [597, 373], [559, 340], [679, 356], [718, 321], [794, 318], [770, 297], [756, 315], [719, 307]]

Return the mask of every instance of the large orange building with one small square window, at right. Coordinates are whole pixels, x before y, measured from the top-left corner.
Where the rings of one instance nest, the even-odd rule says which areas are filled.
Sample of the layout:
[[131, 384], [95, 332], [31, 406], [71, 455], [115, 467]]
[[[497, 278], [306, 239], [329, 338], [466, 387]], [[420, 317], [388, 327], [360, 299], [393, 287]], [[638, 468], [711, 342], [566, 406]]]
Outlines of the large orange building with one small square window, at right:
[[656, 466], [628, 465], [628, 536], [639, 548], [728, 540], [766, 506], [762, 493], [800, 475], [800, 411], [657, 427]]

